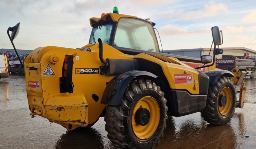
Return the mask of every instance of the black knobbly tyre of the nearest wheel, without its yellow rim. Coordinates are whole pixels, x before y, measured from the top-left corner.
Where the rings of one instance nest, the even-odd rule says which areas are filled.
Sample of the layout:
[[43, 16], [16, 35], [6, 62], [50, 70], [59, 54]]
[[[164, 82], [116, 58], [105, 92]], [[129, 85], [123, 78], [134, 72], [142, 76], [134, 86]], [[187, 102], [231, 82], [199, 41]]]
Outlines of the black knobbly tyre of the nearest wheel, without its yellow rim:
[[105, 114], [105, 130], [107, 131], [107, 137], [110, 139], [112, 144], [116, 148], [149, 148], [152, 149], [154, 146], [159, 144], [160, 138], [163, 137], [164, 132], [163, 128], [160, 128], [159, 135], [156, 135], [155, 138], [152, 139], [147, 144], [138, 145], [132, 142], [129, 138], [127, 132], [127, 119], [128, 119], [128, 111], [129, 106], [132, 101], [143, 90], [155, 90], [161, 96], [161, 100], [163, 103], [163, 107], [160, 110], [163, 110], [165, 115], [161, 115], [164, 118], [163, 125], [160, 127], [166, 128], [166, 120], [167, 120], [167, 111], [168, 107], [166, 106], [166, 98], [164, 98], [164, 92], [161, 91], [160, 87], [156, 85], [155, 82], [145, 79], [134, 79], [128, 85], [125, 90], [122, 103], [118, 106], [107, 106], [106, 114]]

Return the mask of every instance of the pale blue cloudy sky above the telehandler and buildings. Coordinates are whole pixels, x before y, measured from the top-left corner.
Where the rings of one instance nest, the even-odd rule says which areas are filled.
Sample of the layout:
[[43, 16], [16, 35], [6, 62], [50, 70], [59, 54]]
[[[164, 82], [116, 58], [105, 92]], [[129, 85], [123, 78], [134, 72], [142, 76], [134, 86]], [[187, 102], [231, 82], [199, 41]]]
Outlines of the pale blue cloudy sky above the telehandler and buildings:
[[255, 0], [0, 0], [0, 49], [12, 48], [6, 30], [18, 22], [17, 49], [82, 47], [90, 37], [89, 18], [114, 6], [155, 22], [164, 50], [209, 48], [213, 26], [223, 30], [221, 47], [256, 50]]

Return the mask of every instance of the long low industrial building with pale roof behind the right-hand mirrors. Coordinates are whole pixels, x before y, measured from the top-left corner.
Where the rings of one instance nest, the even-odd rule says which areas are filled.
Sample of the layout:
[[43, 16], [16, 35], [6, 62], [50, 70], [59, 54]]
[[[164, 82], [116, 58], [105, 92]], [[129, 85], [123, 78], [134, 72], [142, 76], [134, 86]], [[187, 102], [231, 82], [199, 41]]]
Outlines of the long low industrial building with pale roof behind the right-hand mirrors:
[[[232, 58], [233, 56], [237, 58], [242, 58], [244, 53], [249, 53], [250, 56], [255, 56], [256, 51], [244, 47], [237, 48], [220, 48], [223, 49], [223, 54], [217, 55], [217, 59], [222, 58]], [[194, 58], [201, 58], [202, 55], [209, 55], [210, 48], [198, 48], [198, 49], [179, 49], [179, 50], [164, 50], [164, 53], [182, 55]], [[213, 48], [212, 48], [213, 51]], [[211, 51], [210, 55], [213, 56]]]

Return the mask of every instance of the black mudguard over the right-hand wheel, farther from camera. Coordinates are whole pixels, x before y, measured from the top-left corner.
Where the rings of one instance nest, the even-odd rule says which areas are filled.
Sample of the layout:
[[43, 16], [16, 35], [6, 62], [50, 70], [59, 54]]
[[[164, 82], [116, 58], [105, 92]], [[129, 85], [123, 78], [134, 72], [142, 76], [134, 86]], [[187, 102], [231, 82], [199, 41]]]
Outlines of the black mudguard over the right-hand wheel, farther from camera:
[[210, 78], [209, 84], [216, 84], [219, 77], [221, 77], [222, 75], [226, 75], [228, 77], [235, 77], [235, 75], [228, 70], [210, 70], [205, 72], [205, 74], [208, 75]]

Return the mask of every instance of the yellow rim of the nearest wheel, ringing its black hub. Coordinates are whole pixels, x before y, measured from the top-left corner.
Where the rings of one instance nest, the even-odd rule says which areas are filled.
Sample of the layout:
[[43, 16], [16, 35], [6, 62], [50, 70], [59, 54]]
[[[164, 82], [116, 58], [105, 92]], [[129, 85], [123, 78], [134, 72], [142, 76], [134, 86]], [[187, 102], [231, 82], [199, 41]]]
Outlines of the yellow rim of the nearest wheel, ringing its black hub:
[[[135, 113], [140, 107], [145, 108], [150, 112], [150, 120], [145, 126], [138, 125], [135, 122]], [[158, 128], [159, 121], [160, 108], [156, 99], [151, 96], [141, 98], [132, 113], [132, 129], [136, 137], [139, 139], [148, 139], [152, 137]]]

